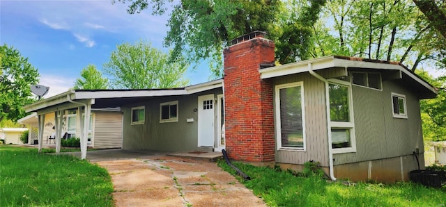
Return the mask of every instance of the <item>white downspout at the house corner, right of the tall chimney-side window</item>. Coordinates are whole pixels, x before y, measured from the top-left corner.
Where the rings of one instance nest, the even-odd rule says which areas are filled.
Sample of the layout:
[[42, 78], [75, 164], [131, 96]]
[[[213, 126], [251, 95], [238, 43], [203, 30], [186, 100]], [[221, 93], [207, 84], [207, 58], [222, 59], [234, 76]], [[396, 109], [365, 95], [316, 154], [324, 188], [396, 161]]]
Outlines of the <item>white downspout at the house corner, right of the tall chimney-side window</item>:
[[319, 80], [323, 81], [325, 83], [325, 106], [326, 106], [326, 114], [327, 114], [327, 135], [328, 135], [328, 163], [329, 163], [329, 171], [330, 171], [330, 179], [332, 181], [336, 181], [336, 178], [334, 177], [334, 171], [333, 171], [333, 149], [332, 149], [332, 132], [331, 132], [331, 120], [330, 120], [330, 99], [329, 99], [329, 93], [328, 93], [328, 81], [327, 79], [323, 78], [323, 76], [316, 74], [316, 72], [312, 69], [312, 63], [308, 63], [308, 72], [315, 78], [318, 78]]

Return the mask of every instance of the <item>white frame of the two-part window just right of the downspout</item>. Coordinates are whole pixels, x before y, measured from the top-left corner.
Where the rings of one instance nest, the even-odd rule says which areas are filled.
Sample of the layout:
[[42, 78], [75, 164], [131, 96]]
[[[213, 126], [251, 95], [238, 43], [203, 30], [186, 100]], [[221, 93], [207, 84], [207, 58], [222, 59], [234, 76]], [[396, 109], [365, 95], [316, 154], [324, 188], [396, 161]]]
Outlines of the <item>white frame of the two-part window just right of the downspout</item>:
[[[328, 84], [337, 84], [337, 85], [343, 85], [348, 87], [348, 119], [349, 122], [332, 122], [330, 117], [330, 133], [331, 129], [349, 129], [350, 130], [350, 142], [351, 147], [344, 147], [344, 148], [332, 148], [333, 154], [341, 154], [341, 153], [351, 153], [356, 152], [356, 138], [355, 138], [355, 119], [353, 115], [353, 92], [352, 92], [352, 83], [351, 81], [341, 81], [338, 79], [331, 78], [328, 80]], [[327, 86], [328, 88], [328, 86]], [[330, 92], [329, 92], [329, 99], [330, 102]], [[330, 108], [330, 106], [328, 106]], [[330, 115], [329, 115], [330, 116]], [[331, 135], [330, 135], [331, 136]], [[330, 143], [330, 147], [332, 147], [332, 143]]]

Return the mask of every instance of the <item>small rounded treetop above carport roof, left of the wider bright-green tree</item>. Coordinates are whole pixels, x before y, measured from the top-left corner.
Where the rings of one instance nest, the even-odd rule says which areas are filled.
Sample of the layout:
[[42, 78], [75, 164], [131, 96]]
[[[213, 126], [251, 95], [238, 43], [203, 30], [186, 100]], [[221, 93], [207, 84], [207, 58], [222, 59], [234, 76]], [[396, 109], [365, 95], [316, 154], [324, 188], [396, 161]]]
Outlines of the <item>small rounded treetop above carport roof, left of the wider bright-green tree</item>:
[[107, 89], [108, 79], [93, 64], [87, 65], [81, 71], [81, 78], [75, 81], [74, 89]]

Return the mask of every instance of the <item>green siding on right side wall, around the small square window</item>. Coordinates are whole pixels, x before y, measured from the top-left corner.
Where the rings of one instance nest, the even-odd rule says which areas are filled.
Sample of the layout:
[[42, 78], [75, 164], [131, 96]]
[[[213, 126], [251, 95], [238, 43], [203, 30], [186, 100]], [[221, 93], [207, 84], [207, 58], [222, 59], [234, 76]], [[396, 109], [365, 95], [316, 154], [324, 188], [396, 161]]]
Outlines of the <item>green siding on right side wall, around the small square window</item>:
[[[399, 81], [383, 81], [383, 91], [353, 85], [356, 152], [334, 154], [334, 165], [393, 158], [423, 151], [420, 101]], [[392, 92], [406, 95], [407, 119], [394, 118]]]

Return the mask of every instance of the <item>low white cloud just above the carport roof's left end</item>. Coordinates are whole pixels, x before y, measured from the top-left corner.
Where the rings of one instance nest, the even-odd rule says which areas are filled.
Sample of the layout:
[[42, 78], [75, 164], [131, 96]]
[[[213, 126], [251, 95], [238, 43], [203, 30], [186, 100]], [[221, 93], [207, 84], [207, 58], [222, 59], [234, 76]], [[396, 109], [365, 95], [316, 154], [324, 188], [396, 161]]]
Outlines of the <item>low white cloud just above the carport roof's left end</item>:
[[49, 86], [48, 93], [45, 98], [53, 97], [56, 94], [67, 92], [74, 85], [75, 80], [54, 74], [40, 74], [41, 85]]

